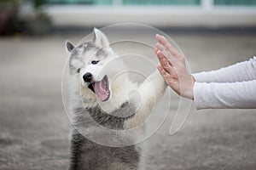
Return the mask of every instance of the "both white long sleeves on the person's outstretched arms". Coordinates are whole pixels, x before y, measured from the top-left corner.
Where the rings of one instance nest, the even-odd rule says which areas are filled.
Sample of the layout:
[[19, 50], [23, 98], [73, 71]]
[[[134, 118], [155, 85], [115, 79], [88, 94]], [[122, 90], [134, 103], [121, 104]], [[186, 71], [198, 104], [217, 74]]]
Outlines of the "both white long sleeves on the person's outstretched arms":
[[193, 76], [197, 109], [256, 109], [256, 57]]

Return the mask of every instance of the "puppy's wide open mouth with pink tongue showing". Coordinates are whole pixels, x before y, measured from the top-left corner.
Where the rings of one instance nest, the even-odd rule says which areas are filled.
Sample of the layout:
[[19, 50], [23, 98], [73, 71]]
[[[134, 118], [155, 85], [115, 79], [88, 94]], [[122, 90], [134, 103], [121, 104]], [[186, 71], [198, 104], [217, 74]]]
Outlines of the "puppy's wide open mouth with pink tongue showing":
[[100, 82], [90, 82], [88, 88], [90, 88], [91, 91], [96, 94], [97, 98], [102, 101], [108, 100], [110, 96], [107, 76], [103, 77]]

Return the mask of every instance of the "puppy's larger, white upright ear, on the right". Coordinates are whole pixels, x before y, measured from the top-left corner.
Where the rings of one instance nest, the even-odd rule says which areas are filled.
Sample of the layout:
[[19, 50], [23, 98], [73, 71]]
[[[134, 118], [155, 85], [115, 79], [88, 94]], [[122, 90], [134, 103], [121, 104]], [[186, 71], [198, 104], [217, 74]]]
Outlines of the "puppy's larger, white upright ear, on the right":
[[94, 37], [93, 42], [95, 42], [96, 46], [105, 48], [109, 46], [108, 38], [103, 34], [102, 31], [97, 28], [93, 29]]

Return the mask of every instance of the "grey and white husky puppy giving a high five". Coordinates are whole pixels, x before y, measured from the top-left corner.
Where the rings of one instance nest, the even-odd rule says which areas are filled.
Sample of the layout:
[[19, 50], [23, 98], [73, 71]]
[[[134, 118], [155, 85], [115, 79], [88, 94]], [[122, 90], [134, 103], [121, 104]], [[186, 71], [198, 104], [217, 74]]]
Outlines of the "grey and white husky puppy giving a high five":
[[[139, 86], [131, 82], [108, 38], [96, 28], [93, 34], [91, 42], [76, 47], [66, 42], [74, 115], [69, 169], [143, 169], [142, 148], [136, 144], [143, 136], [140, 125], [164, 94], [166, 82], [157, 70]], [[135, 91], [139, 95], [131, 93]]]

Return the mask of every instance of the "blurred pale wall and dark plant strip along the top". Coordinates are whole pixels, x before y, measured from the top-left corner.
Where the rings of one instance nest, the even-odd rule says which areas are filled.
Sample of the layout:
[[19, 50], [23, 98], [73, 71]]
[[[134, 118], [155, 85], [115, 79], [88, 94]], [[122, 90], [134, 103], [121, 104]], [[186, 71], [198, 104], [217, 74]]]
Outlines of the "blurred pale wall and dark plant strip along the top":
[[[135, 22], [156, 27], [253, 27], [255, 0], [2, 0], [0, 33]], [[40, 32], [41, 31], [41, 32]]]

